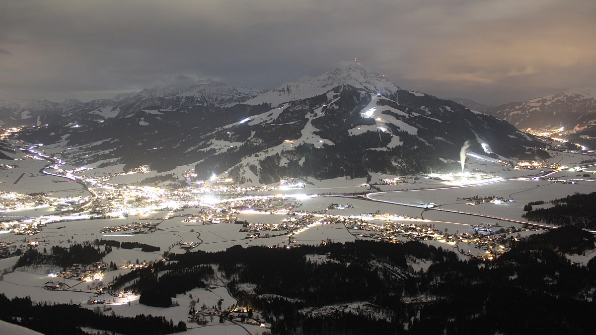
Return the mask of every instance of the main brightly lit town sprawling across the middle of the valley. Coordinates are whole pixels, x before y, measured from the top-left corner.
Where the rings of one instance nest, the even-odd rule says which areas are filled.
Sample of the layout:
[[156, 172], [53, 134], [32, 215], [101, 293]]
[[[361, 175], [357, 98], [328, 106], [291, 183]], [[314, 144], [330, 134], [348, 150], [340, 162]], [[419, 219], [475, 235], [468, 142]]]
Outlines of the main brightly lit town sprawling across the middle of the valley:
[[[523, 166], [523, 165], [522, 165]], [[483, 234], [485, 231], [476, 229], [476, 233], [462, 232], [452, 234], [433, 229], [426, 224], [419, 223], [420, 219], [409, 216], [391, 213], [368, 213], [361, 212], [360, 215], [330, 215], [328, 211], [354, 209], [350, 203], [330, 203], [325, 210], [308, 211], [301, 210], [302, 202], [299, 196], [249, 196], [247, 188], [241, 188], [231, 178], [212, 178], [210, 181], [195, 181], [195, 174], [185, 173], [185, 178], [193, 182], [193, 185], [180, 188], [163, 188], [140, 185], [109, 184], [110, 178], [106, 176], [91, 177], [82, 175], [85, 169], [61, 170], [56, 167], [58, 174], [76, 178], [80, 182], [92, 187], [90, 196], [77, 196], [68, 198], [57, 198], [45, 194], [32, 196], [17, 193], [1, 193], [0, 198], [4, 199], [4, 211], [10, 212], [15, 209], [38, 209], [51, 207], [56, 211], [55, 215], [42, 215], [39, 218], [21, 218], [2, 222], [4, 229], [10, 229], [15, 234], [35, 235], [39, 234], [46, 225], [52, 222], [64, 222], [81, 219], [106, 219], [106, 218], [131, 218], [134, 216], [151, 216], [151, 220], [145, 222], [133, 221], [123, 225], [104, 227], [100, 229], [101, 234], [116, 232], [132, 232], [133, 234], [147, 234], [159, 229], [159, 220], [167, 220], [175, 217], [182, 217], [184, 224], [216, 225], [216, 224], [243, 224], [239, 233], [244, 233], [246, 239], [259, 239], [280, 237], [287, 235], [286, 247], [296, 246], [296, 239], [293, 237], [305, 229], [315, 225], [342, 224], [353, 235], [360, 238], [375, 238], [377, 240], [401, 243], [406, 240], [434, 240], [442, 243], [474, 244], [478, 249], [485, 250], [482, 259], [491, 260], [507, 249], [507, 241], [494, 234]], [[131, 169], [126, 174], [147, 173], [148, 168], [141, 166]], [[78, 174], [78, 175], [77, 175]], [[119, 175], [116, 173], [116, 175]], [[113, 177], [113, 176], [110, 176]], [[414, 177], [412, 177], [414, 178]], [[429, 176], [428, 178], [438, 178]], [[383, 179], [382, 185], [398, 185], [407, 182], [406, 178]], [[414, 181], [417, 178], [414, 178]], [[264, 187], [264, 186], [263, 186]], [[301, 182], [293, 179], [281, 179], [280, 188], [304, 187]], [[255, 189], [256, 190], [256, 189]], [[259, 188], [263, 190], [263, 188]], [[468, 205], [483, 203], [511, 203], [512, 199], [495, 196], [473, 196], [458, 198], [457, 200], [467, 201]], [[425, 203], [424, 207], [430, 209], [437, 206], [435, 203]], [[191, 214], [188, 214], [190, 210]], [[184, 211], [178, 214], [177, 212]], [[162, 213], [157, 217], [157, 213]], [[285, 218], [278, 222], [244, 222], [238, 221], [238, 215], [250, 215], [268, 213], [271, 215], [282, 215]], [[373, 219], [374, 223], [368, 221]], [[393, 222], [392, 222], [393, 220]], [[412, 221], [412, 223], [398, 223], [396, 221]], [[61, 228], [61, 227], [58, 227]], [[515, 229], [515, 228], [512, 228]], [[510, 233], [510, 232], [508, 232]], [[185, 241], [180, 243], [182, 249], [191, 250], [197, 247], [200, 241]], [[285, 243], [284, 243], [285, 244]], [[462, 255], [469, 253], [460, 248]], [[471, 253], [474, 254], [474, 253]], [[470, 255], [471, 255], [470, 254]], [[474, 254], [475, 255], [475, 254]], [[476, 256], [474, 256], [476, 257]]]

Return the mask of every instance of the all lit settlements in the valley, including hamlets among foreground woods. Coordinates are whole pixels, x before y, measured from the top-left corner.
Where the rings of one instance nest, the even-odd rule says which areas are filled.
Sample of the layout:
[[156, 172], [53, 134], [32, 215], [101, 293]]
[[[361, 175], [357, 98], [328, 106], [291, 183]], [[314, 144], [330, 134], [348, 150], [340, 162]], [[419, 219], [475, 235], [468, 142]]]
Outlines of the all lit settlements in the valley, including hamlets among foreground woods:
[[[32, 154], [27, 159], [34, 160], [36, 157]], [[260, 244], [271, 248], [290, 249], [303, 244], [365, 239], [396, 244], [421, 241], [452, 250], [460, 259], [473, 258], [485, 262], [491, 262], [509, 250], [511, 244], [520, 238], [520, 234], [540, 232], [540, 229], [527, 228], [523, 223], [499, 225], [499, 222], [495, 221], [483, 223], [482, 219], [470, 220], [469, 224], [462, 224], [461, 221], [443, 222], [440, 216], [442, 212], [435, 211], [445, 208], [445, 203], [451, 206], [461, 204], [464, 207], [465, 204], [482, 205], [468, 208], [480, 208], [489, 212], [520, 206], [516, 205], [519, 200], [511, 197], [470, 196], [458, 193], [457, 196], [443, 197], [441, 200], [434, 200], [434, 196], [399, 200], [410, 206], [409, 209], [396, 207], [395, 204], [376, 207], [377, 203], [370, 203], [364, 197], [358, 197], [364, 193], [361, 191], [362, 188], [353, 194], [330, 194], [330, 198], [325, 198], [325, 194], [307, 196], [303, 193], [308, 192], [306, 189], [309, 185], [293, 178], [281, 178], [275, 185], [245, 187], [229, 177], [219, 176], [207, 181], [198, 181], [196, 174], [189, 171], [184, 174], [185, 185], [182, 183], [171, 187], [160, 182], [159, 178], [156, 181], [142, 178], [142, 175], [150, 173], [147, 166], [139, 166], [127, 172], [92, 175], [91, 168], [67, 170], [61, 168], [63, 165], [60, 164], [60, 160], [55, 159], [55, 162], [57, 163], [49, 169], [54, 175], [64, 176], [65, 180], [85, 185], [82, 190], [88, 192], [80, 191], [79, 194], [70, 193], [63, 197], [51, 192], [0, 193], [0, 209], [6, 215], [4, 222], [1, 222], [2, 229], [20, 235], [57, 234], [54, 237], [55, 243], [74, 243], [75, 239], [94, 238], [69, 234], [73, 229], [76, 231], [77, 225], [82, 227], [84, 224], [85, 227], [94, 227], [89, 228], [85, 235], [103, 234], [116, 240], [134, 239], [151, 242], [153, 245], [161, 244], [163, 258], [171, 252], [223, 250], [225, 247], [238, 244]], [[532, 166], [531, 169], [538, 169], [538, 166]], [[136, 176], [137, 182], [116, 183], [113, 179], [121, 178], [116, 180], [122, 181], [122, 178], [130, 176]], [[436, 174], [393, 176], [361, 186], [367, 188], [368, 192], [407, 190], [418, 188], [418, 185], [444, 187], [445, 183], [453, 182], [453, 179], [454, 176]], [[477, 179], [476, 182], [496, 180], [486, 173]], [[138, 182], [143, 180], [148, 182]], [[544, 181], [563, 184], [569, 179], [544, 178]], [[533, 184], [536, 182], [533, 181]], [[409, 193], [404, 193], [407, 194]], [[438, 217], [427, 219], [427, 213], [430, 213], [427, 211], [437, 213]], [[35, 215], [36, 213], [39, 215]], [[159, 241], [164, 237], [167, 238], [167, 242]], [[29, 236], [26, 236], [23, 243], [29, 241]], [[49, 245], [45, 239], [36, 238], [33, 241], [42, 241], [42, 244]], [[41, 244], [33, 247], [39, 245]], [[18, 247], [23, 248], [23, 244], [7, 242], [3, 252], [6, 255], [14, 255]], [[153, 252], [151, 255], [139, 249], [141, 248], [135, 247], [133, 250], [111, 252], [104, 257], [103, 266], [99, 267], [97, 264], [69, 265], [60, 271], [51, 272], [49, 280], [37, 285], [46, 291], [66, 290], [80, 293], [82, 291], [76, 289], [76, 282], [87, 283], [87, 289], [82, 290], [90, 295], [88, 299], [81, 300], [82, 303], [92, 306], [103, 305], [105, 311], [122, 304], [131, 306], [131, 303], [138, 303], [138, 294], [131, 291], [112, 291], [109, 283], [116, 275], [135, 269], [151, 268], [156, 257], [162, 259], [161, 251]], [[139, 260], [143, 258], [148, 261]], [[104, 281], [108, 283], [105, 286]], [[195, 289], [192, 294], [199, 294], [197, 290], [203, 290], [200, 295], [216, 293], [216, 296], [226, 297], [225, 284], [222, 283], [210, 284], [206, 289]], [[201, 300], [205, 301], [203, 298]], [[197, 323], [199, 327], [217, 324], [220, 320], [224, 324], [271, 327], [259, 311], [253, 311], [246, 306], [232, 305], [225, 308], [216, 305], [216, 301], [200, 306], [197, 303], [197, 306], [188, 311], [187, 322]]]

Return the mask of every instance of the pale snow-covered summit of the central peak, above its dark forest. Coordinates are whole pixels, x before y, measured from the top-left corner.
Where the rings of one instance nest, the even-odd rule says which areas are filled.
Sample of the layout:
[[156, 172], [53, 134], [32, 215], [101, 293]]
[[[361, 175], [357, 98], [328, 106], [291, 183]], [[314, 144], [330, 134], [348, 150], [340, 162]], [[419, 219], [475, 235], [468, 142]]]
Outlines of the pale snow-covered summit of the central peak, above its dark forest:
[[362, 88], [389, 98], [395, 98], [396, 92], [399, 89], [389, 79], [379, 75], [377, 72], [367, 70], [353, 63], [330, 72], [325, 72], [318, 77], [303, 82], [285, 83], [278, 88], [246, 101], [246, 103], [252, 105], [271, 103], [273, 106], [277, 106], [288, 101], [315, 97], [342, 85]]

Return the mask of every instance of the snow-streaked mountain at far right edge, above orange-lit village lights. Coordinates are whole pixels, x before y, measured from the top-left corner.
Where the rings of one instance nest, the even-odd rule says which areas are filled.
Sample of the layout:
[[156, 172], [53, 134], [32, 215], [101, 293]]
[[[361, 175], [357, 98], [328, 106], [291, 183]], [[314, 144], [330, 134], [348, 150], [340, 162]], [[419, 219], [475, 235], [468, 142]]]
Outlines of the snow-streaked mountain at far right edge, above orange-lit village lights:
[[486, 112], [519, 129], [592, 128], [596, 125], [596, 88], [571, 89]]

